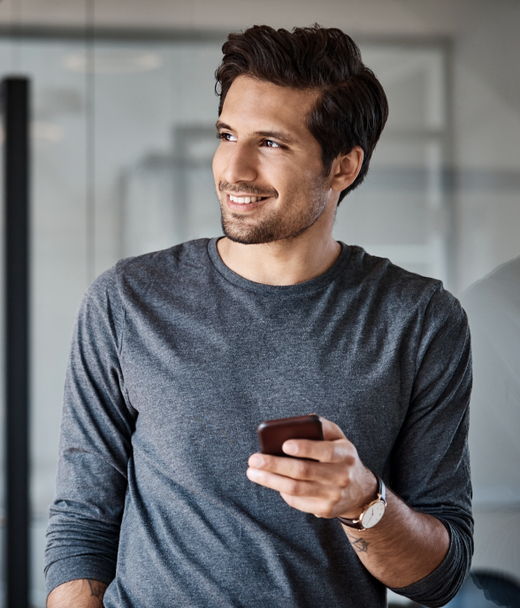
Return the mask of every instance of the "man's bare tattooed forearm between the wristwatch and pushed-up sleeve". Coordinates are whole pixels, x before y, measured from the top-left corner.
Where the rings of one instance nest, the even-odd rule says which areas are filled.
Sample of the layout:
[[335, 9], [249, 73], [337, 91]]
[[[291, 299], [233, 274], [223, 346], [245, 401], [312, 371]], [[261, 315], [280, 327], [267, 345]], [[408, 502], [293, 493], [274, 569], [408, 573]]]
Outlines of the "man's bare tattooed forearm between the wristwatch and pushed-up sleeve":
[[377, 526], [343, 526], [363, 566], [386, 587], [408, 587], [432, 573], [446, 557], [449, 535], [439, 519], [413, 511], [391, 491]]

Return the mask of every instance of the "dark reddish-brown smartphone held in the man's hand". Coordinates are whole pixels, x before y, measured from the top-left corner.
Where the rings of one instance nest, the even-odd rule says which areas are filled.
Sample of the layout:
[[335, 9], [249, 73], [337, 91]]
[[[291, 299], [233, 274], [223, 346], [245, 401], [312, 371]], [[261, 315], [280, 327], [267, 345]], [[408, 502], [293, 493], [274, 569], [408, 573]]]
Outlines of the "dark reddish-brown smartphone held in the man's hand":
[[321, 419], [316, 414], [265, 420], [258, 425], [256, 430], [258, 432], [260, 451], [263, 454], [271, 454], [272, 456], [289, 457], [281, 449], [284, 442], [287, 442], [287, 439], [324, 440]]

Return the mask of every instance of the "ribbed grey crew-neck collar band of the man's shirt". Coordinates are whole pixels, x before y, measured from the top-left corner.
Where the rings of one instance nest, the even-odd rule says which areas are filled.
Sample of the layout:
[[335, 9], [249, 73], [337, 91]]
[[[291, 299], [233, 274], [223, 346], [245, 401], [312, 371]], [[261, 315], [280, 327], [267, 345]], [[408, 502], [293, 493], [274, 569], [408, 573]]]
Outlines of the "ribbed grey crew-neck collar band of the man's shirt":
[[276, 295], [276, 296], [302, 296], [304, 294], [310, 294], [320, 289], [324, 289], [329, 285], [340, 271], [347, 265], [351, 255], [350, 248], [344, 242], [338, 241], [341, 245], [341, 252], [338, 259], [333, 263], [333, 266], [325, 270], [325, 273], [319, 274], [310, 281], [304, 281], [302, 283], [296, 283], [295, 285], [266, 285], [265, 283], [257, 283], [255, 281], [249, 281], [240, 274], [237, 274], [231, 270], [220, 258], [220, 254], [217, 249], [217, 242], [224, 238], [223, 236], [216, 236], [208, 242], [208, 254], [213, 266], [217, 269], [227, 281], [240, 287], [241, 289], [247, 289], [248, 291], [255, 291], [264, 295]]

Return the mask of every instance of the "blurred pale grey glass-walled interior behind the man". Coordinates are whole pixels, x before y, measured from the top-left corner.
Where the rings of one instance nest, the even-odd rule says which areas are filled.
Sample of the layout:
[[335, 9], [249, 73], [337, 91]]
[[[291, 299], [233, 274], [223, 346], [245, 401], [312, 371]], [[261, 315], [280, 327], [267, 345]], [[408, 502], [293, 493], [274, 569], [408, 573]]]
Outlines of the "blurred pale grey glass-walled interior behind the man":
[[[467, 302], [477, 336], [472, 599], [453, 606], [518, 605], [485, 579], [520, 582], [520, 271], [499, 271], [500, 289], [496, 273], [473, 284], [520, 256], [520, 4], [2, 0], [0, 77], [31, 81], [33, 606], [45, 605], [47, 508], [80, 298], [119, 258], [221, 234], [211, 158], [222, 43], [254, 24], [314, 22], [352, 35], [390, 104], [369, 176], [340, 205], [336, 238], [444, 281]], [[502, 318], [509, 325], [493, 329]]]

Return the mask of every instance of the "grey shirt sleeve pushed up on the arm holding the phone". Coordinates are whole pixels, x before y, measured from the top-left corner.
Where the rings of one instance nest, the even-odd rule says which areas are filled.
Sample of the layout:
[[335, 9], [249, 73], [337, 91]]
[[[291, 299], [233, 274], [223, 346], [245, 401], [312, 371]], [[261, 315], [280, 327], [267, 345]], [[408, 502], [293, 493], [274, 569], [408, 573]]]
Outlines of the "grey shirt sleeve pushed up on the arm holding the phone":
[[416, 374], [392, 454], [391, 488], [447, 527], [446, 558], [395, 593], [432, 608], [447, 604], [470, 572], [473, 554], [470, 455], [470, 330], [463, 308], [440, 287], [424, 313]]

